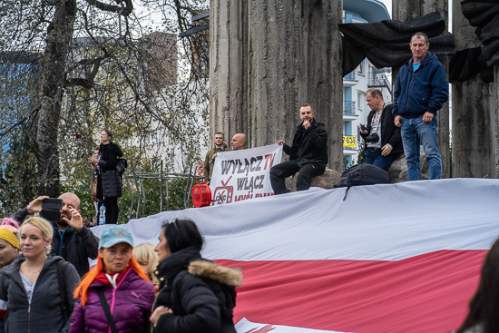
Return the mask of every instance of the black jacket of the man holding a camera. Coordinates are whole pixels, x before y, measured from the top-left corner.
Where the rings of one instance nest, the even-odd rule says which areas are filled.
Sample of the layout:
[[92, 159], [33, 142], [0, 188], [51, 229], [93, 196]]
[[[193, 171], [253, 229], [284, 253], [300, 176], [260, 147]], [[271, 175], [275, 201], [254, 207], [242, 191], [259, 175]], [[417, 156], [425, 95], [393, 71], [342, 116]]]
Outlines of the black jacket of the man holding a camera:
[[[400, 127], [396, 127], [395, 125], [392, 110], [393, 104], [388, 103], [385, 104], [383, 113], [381, 113], [381, 147], [383, 147], [386, 143], [390, 143], [393, 147], [390, 154], [397, 155], [404, 152], [404, 147], [402, 145], [402, 137], [400, 136]], [[376, 111], [371, 110], [369, 115], [367, 115], [367, 134], [360, 133], [360, 136], [363, 138], [366, 138], [372, 130], [371, 122], [373, 121], [375, 113]], [[366, 144], [366, 142], [364, 143]]]

